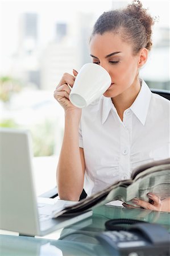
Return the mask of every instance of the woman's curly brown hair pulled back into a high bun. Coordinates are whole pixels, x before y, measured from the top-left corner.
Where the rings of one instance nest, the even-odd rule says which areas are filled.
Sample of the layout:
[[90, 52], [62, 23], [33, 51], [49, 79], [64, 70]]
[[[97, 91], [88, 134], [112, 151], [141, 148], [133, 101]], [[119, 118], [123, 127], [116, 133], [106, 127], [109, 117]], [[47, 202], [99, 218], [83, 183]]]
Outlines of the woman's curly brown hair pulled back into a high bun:
[[154, 18], [147, 13], [147, 9], [142, 7], [139, 0], [134, 0], [125, 9], [107, 11], [99, 16], [94, 24], [91, 39], [96, 34], [113, 31], [121, 35], [123, 42], [132, 44], [134, 54], [142, 48], [150, 51], [152, 25]]

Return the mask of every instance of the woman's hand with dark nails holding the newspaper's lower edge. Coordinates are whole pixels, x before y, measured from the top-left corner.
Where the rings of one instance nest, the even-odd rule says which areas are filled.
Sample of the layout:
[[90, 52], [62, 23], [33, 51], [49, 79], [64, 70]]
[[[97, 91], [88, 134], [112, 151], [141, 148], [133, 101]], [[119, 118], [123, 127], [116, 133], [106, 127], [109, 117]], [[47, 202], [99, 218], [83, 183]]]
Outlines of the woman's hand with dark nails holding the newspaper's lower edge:
[[[132, 200], [132, 203], [139, 205], [139, 207], [142, 207], [147, 210], [161, 210], [162, 209], [163, 204], [162, 204], [159, 196], [155, 196], [153, 193], [148, 193], [147, 196], [149, 197], [150, 200], [152, 200], [151, 203], [147, 203], [146, 201], [140, 200], [138, 198], [134, 198]], [[132, 205], [125, 204], [125, 203], [123, 203], [122, 205], [126, 208], [137, 208]]]

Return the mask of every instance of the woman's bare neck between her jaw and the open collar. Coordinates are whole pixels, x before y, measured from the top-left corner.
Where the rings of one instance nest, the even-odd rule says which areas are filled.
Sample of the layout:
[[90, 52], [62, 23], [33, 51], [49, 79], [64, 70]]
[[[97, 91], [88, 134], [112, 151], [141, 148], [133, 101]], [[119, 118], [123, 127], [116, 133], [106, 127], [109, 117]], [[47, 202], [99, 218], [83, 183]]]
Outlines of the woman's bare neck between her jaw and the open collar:
[[115, 108], [117, 109], [118, 115], [123, 121], [123, 113], [126, 109], [135, 101], [140, 91], [140, 81], [139, 78], [133, 82], [133, 84], [125, 92], [119, 94], [118, 96], [111, 98]]

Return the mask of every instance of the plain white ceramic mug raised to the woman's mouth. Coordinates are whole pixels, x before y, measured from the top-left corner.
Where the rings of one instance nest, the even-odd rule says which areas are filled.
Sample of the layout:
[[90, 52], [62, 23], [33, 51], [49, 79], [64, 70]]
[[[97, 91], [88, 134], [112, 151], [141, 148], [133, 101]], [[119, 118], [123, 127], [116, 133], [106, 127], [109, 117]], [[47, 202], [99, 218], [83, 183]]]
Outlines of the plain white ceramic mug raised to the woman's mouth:
[[82, 66], [73, 88], [69, 94], [69, 100], [77, 108], [85, 108], [103, 93], [111, 85], [111, 77], [105, 68], [94, 63], [87, 63]]

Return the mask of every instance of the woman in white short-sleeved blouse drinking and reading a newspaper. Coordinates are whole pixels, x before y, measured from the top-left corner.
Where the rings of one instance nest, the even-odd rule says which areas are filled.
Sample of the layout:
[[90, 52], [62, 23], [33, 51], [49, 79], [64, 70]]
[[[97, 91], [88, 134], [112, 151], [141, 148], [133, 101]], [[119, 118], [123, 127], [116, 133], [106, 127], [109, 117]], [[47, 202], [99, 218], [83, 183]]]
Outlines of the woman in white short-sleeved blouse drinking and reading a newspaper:
[[[109, 72], [109, 89], [81, 110], [69, 101], [67, 85], [73, 86], [77, 72], [65, 73], [57, 86], [54, 97], [65, 111], [57, 166], [61, 199], [77, 201], [83, 186], [91, 195], [128, 179], [140, 164], [169, 157], [169, 101], [151, 93], [139, 78], [152, 46], [153, 24], [139, 1], [123, 10], [103, 13], [94, 24], [90, 56]], [[148, 197], [152, 204], [138, 199], [134, 203], [167, 210], [166, 202], [152, 193]]]

